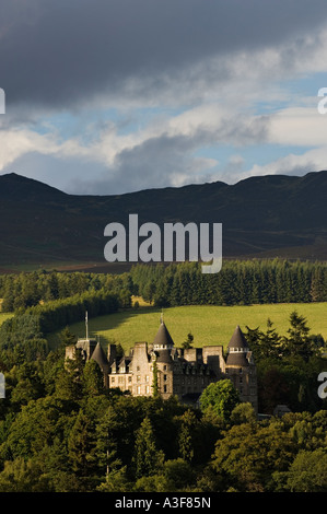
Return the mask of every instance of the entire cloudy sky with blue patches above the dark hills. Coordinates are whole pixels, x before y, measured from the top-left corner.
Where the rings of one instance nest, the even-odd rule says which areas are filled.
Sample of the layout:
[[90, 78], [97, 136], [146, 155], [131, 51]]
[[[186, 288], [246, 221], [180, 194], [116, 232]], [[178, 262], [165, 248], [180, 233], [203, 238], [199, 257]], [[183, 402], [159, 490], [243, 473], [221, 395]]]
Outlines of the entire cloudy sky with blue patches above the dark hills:
[[327, 168], [323, 0], [3, 0], [0, 174], [110, 195]]

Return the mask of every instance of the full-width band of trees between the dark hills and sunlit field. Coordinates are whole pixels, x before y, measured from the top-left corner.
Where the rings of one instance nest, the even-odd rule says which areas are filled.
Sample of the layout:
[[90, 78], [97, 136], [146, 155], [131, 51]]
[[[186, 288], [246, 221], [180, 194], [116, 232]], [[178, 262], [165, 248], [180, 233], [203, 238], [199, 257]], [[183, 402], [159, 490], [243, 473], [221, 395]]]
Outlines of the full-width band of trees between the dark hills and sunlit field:
[[138, 264], [121, 274], [56, 270], [0, 274], [3, 312], [101, 289], [117, 294], [125, 306], [131, 294], [157, 306], [326, 302], [327, 265], [253, 259], [224, 260], [221, 271], [212, 274], [202, 273], [198, 262]]

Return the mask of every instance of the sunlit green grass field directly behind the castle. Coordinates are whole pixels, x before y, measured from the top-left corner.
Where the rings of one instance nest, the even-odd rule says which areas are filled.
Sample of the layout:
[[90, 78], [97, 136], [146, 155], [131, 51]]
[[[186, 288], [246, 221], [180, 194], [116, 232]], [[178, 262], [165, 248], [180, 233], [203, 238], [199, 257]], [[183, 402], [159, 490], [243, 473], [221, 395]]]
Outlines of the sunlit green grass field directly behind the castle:
[[[164, 320], [178, 347], [187, 334], [194, 336], [194, 346], [223, 344], [226, 347], [232, 334], [240, 325], [241, 329], [260, 327], [266, 329], [268, 317], [280, 335], [287, 334], [290, 314], [296, 311], [307, 319], [311, 334], [322, 334], [327, 339], [327, 303], [312, 304], [271, 304], [250, 306], [183, 306], [164, 309]], [[129, 350], [137, 341], [151, 343], [160, 325], [161, 309], [143, 306], [130, 308], [117, 314], [89, 318], [90, 336], [100, 336], [104, 349], [107, 343], [119, 342], [124, 350]], [[84, 337], [84, 322], [71, 325], [70, 330], [78, 337]], [[58, 332], [50, 335], [52, 348], [58, 343]]]

